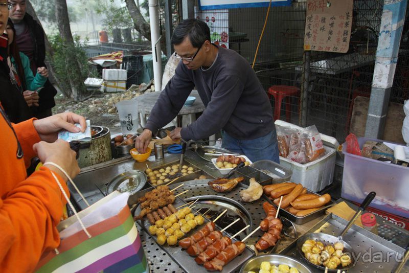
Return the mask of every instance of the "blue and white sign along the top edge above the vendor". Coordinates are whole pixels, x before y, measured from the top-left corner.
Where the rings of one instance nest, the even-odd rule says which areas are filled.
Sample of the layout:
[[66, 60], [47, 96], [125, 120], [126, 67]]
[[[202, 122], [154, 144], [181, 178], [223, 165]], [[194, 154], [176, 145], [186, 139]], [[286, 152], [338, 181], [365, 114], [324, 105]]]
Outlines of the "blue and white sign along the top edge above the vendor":
[[[268, 7], [270, 0], [199, 0], [200, 10]], [[291, 6], [291, 0], [271, 0], [271, 7]]]

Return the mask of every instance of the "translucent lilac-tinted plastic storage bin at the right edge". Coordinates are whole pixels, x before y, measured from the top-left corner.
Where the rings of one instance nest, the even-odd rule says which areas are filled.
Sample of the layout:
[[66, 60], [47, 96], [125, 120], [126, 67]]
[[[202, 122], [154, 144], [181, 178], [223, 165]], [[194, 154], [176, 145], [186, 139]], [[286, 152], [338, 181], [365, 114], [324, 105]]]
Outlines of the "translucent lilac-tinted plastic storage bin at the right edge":
[[[397, 144], [376, 139], [358, 138], [359, 148], [367, 141], [383, 142], [395, 149]], [[385, 163], [372, 158], [350, 154], [343, 145], [345, 155], [341, 196], [347, 200], [362, 202], [366, 194], [376, 192], [371, 207], [409, 218], [409, 168]], [[405, 153], [409, 148], [404, 147]]]

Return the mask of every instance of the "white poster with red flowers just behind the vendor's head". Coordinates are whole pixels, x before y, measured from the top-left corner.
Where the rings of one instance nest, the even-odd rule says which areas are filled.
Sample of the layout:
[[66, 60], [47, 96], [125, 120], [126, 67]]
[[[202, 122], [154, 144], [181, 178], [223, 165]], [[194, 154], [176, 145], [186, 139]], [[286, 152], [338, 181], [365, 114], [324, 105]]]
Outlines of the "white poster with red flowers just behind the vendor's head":
[[199, 11], [195, 8], [195, 16], [209, 26], [211, 42], [229, 48], [229, 10]]

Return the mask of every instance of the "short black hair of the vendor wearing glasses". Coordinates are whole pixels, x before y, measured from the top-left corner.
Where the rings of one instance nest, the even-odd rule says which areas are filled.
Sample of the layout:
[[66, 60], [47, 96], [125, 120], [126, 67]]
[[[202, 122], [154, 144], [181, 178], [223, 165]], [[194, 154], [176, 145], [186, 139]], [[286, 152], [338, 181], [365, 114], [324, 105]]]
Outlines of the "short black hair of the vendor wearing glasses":
[[173, 31], [171, 42], [180, 44], [187, 36], [193, 47], [199, 48], [206, 40], [210, 41], [210, 29], [202, 20], [185, 19]]

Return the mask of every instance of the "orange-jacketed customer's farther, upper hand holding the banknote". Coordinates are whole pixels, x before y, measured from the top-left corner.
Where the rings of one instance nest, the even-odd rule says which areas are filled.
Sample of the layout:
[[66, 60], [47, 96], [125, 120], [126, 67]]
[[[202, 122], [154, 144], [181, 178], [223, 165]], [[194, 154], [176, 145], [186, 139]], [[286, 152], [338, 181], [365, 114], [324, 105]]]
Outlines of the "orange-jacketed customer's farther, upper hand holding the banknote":
[[[74, 123], [79, 123], [81, 129], [76, 127]], [[41, 140], [47, 142], [54, 142], [57, 140], [58, 132], [61, 129], [78, 133], [85, 132], [86, 123], [85, 118], [72, 112], [59, 113], [57, 115], [33, 121], [34, 128], [40, 135]]]

